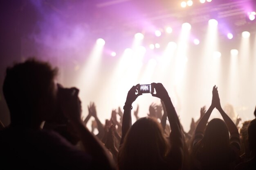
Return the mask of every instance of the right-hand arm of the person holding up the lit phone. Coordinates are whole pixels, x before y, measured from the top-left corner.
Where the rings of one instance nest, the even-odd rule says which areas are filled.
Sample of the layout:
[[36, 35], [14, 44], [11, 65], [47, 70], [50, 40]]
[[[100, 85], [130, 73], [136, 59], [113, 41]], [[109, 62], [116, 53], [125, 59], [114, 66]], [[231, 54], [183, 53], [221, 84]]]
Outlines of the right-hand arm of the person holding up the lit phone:
[[168, 157], [170, 157], [171, 159], [169, 161], [172, 163], [173, 169], [181, 169], [184, 158], [184, 141], [180, 120], [177, 116], [175, 108], [173, 107], [171, 98], [169, 97], [168, 92], [166, 91], [162, 83], [152, 83], [152, 85], [156, 90], [156, 94], [152, 93], [152, 96], [158, 97], [163, 100], [164, 106], [166, 108], [167, 117], [171, 126], [171, 150], [168, 154]]

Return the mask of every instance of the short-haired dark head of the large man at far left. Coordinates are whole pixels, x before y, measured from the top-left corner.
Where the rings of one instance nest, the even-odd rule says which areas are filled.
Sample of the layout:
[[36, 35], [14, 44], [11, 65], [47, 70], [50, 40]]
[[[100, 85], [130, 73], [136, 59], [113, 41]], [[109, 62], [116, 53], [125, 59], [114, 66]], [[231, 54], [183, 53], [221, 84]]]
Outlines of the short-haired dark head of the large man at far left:
[[11, 114], [11, 124], [36, 119], [35, 112], [52, 102], [56, 74], [56, 68], [35, 59], [7, 68], [3, 93]]

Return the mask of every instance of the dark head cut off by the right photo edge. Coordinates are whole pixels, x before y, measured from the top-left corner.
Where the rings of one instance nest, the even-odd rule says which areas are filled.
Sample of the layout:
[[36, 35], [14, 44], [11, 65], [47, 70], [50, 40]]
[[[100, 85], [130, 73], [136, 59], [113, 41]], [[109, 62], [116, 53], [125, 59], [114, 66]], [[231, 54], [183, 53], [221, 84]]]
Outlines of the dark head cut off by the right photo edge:
[[248, 126], [249, 148], [256, 153], [256, 119], [252, 120]]

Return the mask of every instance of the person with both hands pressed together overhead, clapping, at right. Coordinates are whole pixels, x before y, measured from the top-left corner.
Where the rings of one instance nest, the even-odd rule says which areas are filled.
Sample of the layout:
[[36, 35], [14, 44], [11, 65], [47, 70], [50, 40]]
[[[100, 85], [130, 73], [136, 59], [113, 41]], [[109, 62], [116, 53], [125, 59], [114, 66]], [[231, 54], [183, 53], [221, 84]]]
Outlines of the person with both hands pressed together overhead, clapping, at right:
[[[238, 129], [223, 111], [217, 88], [213, 87], [211, 106], [195, 129], [193, 159], [196, 168], [201, 170], [231, 170], [239, 160]], [[224, 121], [213, 119], [207, 124], [214, 108], [218, 109]]]

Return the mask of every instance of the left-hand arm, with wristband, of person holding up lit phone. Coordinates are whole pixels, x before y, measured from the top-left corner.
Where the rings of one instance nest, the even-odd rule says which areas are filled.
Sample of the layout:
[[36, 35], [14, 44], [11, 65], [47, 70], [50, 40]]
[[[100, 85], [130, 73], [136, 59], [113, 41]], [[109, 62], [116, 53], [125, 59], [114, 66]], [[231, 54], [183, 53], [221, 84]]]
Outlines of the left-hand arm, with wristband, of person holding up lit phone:
[[123, 122], [122, 122], [122, 137], [120, 141], [120, 146], [124, 141], [124, 137], [127, 133], [127, 131], [132, 126], [132, 116], [131, 116], [131, 110], [132, 110], [132, 103], [136, 100], [136, 98], [142, 93], [135, 94], [137, 91], [137, 88], [139, 87], [139, 84], [136, 86], [132, 86], [132, 88], [129, 90], [126, 98], [126, 102], [124, 105], [124, 115], [123, 115]]

